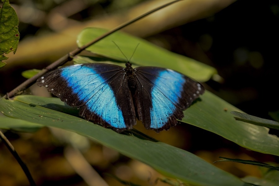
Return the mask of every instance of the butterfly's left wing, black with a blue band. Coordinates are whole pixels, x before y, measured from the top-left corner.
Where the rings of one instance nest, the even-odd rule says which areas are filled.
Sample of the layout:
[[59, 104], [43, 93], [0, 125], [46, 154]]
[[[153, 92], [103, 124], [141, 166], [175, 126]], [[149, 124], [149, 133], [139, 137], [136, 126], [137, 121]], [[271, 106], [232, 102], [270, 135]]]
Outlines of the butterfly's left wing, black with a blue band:
[[86, 120], [117, 132], [136, 124], [135, 108], [124, 68], [111, 64], [78, 64], [55, 69], [37, 80]]

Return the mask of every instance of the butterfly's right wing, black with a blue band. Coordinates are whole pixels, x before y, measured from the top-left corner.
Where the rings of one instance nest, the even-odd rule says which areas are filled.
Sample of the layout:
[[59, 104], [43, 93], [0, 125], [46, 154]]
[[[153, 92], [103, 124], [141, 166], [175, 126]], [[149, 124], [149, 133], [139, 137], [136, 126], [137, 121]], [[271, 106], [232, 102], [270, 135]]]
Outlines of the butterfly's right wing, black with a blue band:
[[135, 105], [146, 129], [168, 130], [184, 117], [183, 110], [203, 94], [204, 87], [174, 70], [158, 67], [135, 69]]

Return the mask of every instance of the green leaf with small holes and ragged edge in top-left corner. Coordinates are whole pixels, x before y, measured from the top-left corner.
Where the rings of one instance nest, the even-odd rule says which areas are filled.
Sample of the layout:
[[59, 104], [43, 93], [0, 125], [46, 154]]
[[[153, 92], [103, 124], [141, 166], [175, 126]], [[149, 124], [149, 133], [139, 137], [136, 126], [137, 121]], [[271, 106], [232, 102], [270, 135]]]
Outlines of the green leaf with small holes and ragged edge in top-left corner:
[[8, 0], [1, 0], [1, 2], [3, 4], [0, 6], [0, 61], [8, 59], [4, 54], [11, 51], [15, 53], [20, 38], [19, 20], [15, 9], [11, 7]]

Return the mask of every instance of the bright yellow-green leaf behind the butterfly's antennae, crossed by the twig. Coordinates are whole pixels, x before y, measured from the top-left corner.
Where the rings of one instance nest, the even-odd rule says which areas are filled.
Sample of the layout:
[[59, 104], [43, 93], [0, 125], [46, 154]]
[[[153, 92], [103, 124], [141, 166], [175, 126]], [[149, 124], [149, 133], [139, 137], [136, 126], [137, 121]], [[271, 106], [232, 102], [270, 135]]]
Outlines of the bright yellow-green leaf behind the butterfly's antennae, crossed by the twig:
[[[81, 47], [98, 36], [106, 33], [108, 30], [100, 28], [87, 28], [82, 30], [78, 35], [78, 46]], [[86, 48], [94, 54], [98, 54], [114, 60], [127, 62], [126, 57], [113, 43], [115, 42], [121, 51], [130, 59], [131, 63], [140, 66], [157, 66], [176, 70], [200, 82], [209, 80], [216, 69], [202, 64], [191, 58], [175, 54], [166, 49], [157, 47], [156, 45], [123, 32], [116, 32], [108, 37], [98, 41], [94, 45]], [[136, 48], [136, 46], [139, 46]], [[133, 55], [133, 52], [136, 51]]]

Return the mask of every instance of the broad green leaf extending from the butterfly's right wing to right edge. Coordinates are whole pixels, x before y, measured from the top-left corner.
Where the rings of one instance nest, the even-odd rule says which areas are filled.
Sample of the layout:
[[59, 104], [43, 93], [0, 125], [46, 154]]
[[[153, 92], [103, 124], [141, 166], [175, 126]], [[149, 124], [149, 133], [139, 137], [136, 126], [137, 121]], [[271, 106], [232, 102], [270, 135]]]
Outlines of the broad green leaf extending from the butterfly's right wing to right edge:
[[223, 136], [250, 150], [279, 156], [279, 138], [268, 134], [268, 128], [235, 120], [231, 112], [243, 111], [209, 91], [200, 99], [184, 111], [183, 122]]

